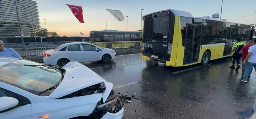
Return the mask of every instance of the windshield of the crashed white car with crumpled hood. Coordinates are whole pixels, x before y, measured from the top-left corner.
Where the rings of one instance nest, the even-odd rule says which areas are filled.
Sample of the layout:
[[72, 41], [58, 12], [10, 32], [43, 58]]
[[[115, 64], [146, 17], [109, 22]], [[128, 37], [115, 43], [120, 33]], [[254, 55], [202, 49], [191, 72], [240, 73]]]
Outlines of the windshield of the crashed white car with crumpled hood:
[[[5, 64], [0, 66], [0, 81], [39, 95], [39, 92], [59, 84], [64, 78], [61, 70], [41, 65], [24, 59]], [[49, 90], [40, 96], [48, 96], [52, 92]]]

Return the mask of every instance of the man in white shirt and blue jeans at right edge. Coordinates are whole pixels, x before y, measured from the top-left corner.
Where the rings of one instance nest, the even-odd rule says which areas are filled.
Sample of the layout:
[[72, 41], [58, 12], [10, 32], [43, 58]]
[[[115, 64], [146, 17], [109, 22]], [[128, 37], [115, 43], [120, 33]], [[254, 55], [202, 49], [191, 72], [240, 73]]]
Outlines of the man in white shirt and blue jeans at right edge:
[[[256, 38], [253, 40], [256, 43]], [[247, 64], [246, 64], [247, 62]], [[253, 69], [256, 71], [256, 45], [249, 47], [248, 55], [244, 59], [243, 64], [246, 64], [245, 71], [244, 71], [244, 78], [241, 81], [247, 83], [249, 72]]]

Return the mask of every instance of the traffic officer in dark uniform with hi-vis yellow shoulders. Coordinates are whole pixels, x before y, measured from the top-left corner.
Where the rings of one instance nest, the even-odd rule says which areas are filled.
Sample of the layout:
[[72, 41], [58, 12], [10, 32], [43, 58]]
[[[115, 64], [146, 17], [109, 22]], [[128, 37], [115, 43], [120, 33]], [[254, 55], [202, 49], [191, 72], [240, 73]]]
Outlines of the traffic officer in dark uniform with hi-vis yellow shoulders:
[[[244, 43], [241, 42], [241, 38], [237, 38], [236, 39], [236, 43], [234, 45], [234, 49], [231, 51], [231, 53], [233, 52], [233, 61], [232, 61], [232, 66], [230, 66], [229, 68], [234, 69], [235, 68], [235, 61], [237, 64], [237, 67], [235, 68], [235, 70], [240, 69], [240, 59], [242, 57], [242, 54], [239, 52], [242, 48], [244, 47]], [[231, 54], [230, 53], [230, 54]]]

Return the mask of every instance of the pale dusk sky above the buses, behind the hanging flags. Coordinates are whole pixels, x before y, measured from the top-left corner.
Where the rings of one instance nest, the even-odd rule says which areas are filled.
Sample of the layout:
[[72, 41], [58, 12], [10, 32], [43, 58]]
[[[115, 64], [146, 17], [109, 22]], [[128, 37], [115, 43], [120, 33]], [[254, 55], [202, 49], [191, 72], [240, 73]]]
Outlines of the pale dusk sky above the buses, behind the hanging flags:
[[[194, 17], [212, 16], [221, 10], [221, 0], [34, 0], [38, 3], [41, 28], [55, 31], [60, 36], [84, 36], [91, 30], [116, 29], [136, 31], [140, 29], [142, 16], [166, 9], [190, 12]], [[80, 23], [65, 4], [82, 6], [84, 22]], [[124, 21], [117, 21], [107, 10], [120, 10]], [[229, 22], [255, 24], [256, 0], [223, 0], [222, 17]], [[143, 24], [143, 23], [142, 23]], [[74, 34], [77, 33], [77, 34]]]

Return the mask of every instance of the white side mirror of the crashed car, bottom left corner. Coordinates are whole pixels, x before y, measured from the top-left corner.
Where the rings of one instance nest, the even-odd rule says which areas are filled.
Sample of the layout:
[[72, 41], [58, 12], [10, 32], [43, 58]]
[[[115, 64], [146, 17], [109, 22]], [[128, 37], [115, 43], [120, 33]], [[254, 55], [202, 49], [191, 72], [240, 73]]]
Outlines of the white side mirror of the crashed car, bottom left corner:
[[16, 106], [19, 101], [13, 97], [0, 97], [0, 111]]

